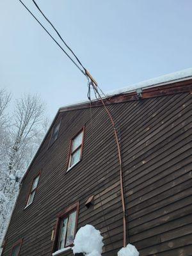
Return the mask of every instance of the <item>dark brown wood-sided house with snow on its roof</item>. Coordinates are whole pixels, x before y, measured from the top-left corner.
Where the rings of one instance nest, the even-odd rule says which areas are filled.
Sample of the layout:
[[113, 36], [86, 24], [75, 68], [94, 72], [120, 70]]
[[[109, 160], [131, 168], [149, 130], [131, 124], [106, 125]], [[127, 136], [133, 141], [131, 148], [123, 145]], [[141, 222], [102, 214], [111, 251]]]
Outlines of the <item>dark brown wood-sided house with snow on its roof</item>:
[[104, 237], [102, 255], [117, 255], [124, 217], [141, 256], [192, 255], [191, 93], [192, 68], [103, 99], [125, 214], [106, 109], [100, 100], [60, 108], [22, 179], [2, 256], [73, 255], [86, 224]]

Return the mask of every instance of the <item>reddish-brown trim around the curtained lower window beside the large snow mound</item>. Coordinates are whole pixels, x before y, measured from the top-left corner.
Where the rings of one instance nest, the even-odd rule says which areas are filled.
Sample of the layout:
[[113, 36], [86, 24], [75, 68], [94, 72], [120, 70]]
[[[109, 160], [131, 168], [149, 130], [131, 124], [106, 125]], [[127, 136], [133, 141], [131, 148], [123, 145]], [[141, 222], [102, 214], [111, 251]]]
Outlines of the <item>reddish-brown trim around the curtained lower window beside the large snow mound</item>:
[[[76, 232], [77, 232], [77, 220], [78, 220], [78, 215], [79, 215], [79, 202], [76, 202], [76, 204], [70, 205], [69, 207], [65, 208], [64, 211], [61, 211], [58, 214], [57, 220], [56, 220], [56, 228], [54, 229], [54, 241], [53, 241], [53, 244], [52, 244], [52, 253], [54, 253], [58, 250], [58, 239], [59, 239], [60, 229], [61, 229], [61, 225], [60, 225], [61, 224], [61, 219], [65, 218], [65, 216], [68, 216], [68, 214], [70, 214], [74, 210], [77, 211], [76, 225], [75, 225], [75, 232], [74, 232], [74, 234], [76, 234]], [[70, 247], [72, 245], [73, 244], [69, 244], [67, 247]]]

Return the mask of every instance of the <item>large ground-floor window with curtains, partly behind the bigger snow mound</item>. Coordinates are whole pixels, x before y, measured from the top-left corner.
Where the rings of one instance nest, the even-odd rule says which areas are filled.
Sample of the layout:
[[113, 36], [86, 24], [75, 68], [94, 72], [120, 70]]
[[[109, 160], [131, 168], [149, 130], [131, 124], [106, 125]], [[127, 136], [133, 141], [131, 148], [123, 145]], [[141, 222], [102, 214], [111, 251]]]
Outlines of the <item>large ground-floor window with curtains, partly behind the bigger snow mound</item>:
[[72, 246], [76, 236], [77, 214], [79, 203], [68, 207], [58, 216], [56, 227], [56, 237], [54, 241], [54, 251]]

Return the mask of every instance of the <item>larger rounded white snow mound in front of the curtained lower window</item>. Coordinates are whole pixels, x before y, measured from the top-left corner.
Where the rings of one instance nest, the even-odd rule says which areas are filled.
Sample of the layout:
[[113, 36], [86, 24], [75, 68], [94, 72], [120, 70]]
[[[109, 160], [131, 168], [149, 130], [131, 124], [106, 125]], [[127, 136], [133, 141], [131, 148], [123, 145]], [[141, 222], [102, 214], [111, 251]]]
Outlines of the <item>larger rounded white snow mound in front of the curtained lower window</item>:
[[86, 256], [100, 256], [102, 246], [104, 244], [100, 231], [92, 225], [85, 225], [78, 230], [72, 250], [74, 254], [84, 253]]

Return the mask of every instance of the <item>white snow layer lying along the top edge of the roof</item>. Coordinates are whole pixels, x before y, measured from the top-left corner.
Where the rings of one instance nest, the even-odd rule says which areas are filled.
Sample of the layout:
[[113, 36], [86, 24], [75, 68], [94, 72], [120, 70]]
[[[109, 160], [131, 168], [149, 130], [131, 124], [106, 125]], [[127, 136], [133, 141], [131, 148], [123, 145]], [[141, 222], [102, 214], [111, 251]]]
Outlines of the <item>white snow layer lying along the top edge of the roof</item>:
[[[111, 96], [118, 95], [118, 94], [134, 92], [138, 88], [147, 89], [150, 87], [161, 86], [163, 84], [174, 83], [175, 81], [182, 81], [182, 80], [186, 80], [189, 78], [192, 78], [192, 68], [187, 68], [187, 69], [180, 70], [180, 71], [177, 71], [174, 73], [166, 74], [164, 76], [159, 76], [159, 77], [155, 77], [152, 79], [148, 79], [148, 80], [140, 82], [140, 83], [131, 84], [124, 88], [109, 91], [106, 93], [106, 96], [111, 97]], [[88, 102], [88, 100], [77, 101], [77, 102], [74, 102], [73, 104], [67, 104], [67, 105], [61, 107], [60, 109], [68, 108], [68, 107], [72, 107], [72, 106], [79, 106], [79, 105], [82, 105], [87, 102]]]

